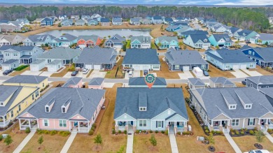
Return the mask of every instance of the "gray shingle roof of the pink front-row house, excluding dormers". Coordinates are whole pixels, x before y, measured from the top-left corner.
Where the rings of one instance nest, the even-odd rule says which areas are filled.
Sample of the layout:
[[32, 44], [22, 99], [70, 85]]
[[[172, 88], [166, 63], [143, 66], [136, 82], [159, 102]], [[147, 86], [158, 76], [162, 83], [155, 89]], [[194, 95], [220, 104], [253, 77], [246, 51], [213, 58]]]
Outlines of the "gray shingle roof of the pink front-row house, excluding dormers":
[[[70, 119], [79, 114], [90, 120], [97, 109], [99, 101], [104, 96], [104, 89], [66, 88], [50, 89], [27, 110], [36, 118]], [[55, 101], [50, 112], [45, 112], [45, 105]], [[66, 113], [62, 113], [62, 105], [71, 101]]]

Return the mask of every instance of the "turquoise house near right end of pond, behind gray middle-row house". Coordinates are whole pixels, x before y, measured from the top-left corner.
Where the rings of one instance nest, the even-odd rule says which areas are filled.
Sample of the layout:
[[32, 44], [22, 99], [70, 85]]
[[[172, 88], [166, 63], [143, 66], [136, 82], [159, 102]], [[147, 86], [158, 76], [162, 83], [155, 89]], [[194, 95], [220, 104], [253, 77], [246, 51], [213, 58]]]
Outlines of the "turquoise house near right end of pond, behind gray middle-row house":
[[160, 36], [155, 38], [155, 45], [157, 45], [160, 50], [179, 48], [179, 39], [177, 36]]

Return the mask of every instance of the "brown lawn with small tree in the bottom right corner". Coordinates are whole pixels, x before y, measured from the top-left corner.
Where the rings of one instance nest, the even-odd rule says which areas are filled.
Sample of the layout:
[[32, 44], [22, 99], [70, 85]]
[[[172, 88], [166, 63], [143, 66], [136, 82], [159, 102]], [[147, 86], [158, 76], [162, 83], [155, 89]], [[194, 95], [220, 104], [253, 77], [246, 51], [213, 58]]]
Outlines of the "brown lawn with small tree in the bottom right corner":
[[[241, 136], [232, 138], [235, 140], [235, 143], [238, 145], [242, 152], [257, 150], [257, 148], [254, 147], [254, 143], [257, 143], [255, 136]], [[260, 144], [265, 150], [269, 150], [269, 152], [273, 151], [273, 145], [267, 138], [264, 138], [263, 143]]]

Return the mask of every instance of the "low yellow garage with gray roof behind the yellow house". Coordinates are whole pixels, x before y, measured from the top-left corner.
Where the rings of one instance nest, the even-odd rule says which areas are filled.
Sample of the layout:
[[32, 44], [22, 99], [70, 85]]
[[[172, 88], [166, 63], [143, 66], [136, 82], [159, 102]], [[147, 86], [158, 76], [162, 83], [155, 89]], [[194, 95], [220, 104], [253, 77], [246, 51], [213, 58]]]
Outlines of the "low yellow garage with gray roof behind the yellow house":
[[16, 75], [3, 82], [3, 85], [39, 87], [41, 90], [48, 85], [48, 77], [38, 75]]

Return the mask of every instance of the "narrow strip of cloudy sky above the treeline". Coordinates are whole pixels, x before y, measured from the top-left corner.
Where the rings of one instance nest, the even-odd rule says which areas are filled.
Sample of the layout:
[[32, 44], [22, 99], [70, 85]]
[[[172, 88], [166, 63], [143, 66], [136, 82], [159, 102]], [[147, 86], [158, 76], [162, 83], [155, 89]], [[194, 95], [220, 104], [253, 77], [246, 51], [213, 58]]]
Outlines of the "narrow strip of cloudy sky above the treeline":
[[273, 0], [0, 0], [0, 3], [120, 3], [153, 5], [273, 5]]

